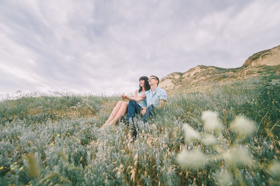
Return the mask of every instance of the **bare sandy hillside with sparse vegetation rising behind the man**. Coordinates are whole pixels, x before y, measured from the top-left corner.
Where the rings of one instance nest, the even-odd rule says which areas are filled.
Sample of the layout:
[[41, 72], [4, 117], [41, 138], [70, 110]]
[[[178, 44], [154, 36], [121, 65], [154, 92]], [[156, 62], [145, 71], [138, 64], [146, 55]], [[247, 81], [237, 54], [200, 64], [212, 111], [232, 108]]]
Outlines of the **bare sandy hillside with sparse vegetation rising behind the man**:
[[253, 54], [241, 67], [235, 69], [199, 65], [184, 73], [171, 73], [161, 79], [159, 86], [170, 93], [178, 90], [203, 90], [216, 83], [226, 84], [254, 78], [262, 75], [267, 69], [280, 73], [280, 46]]

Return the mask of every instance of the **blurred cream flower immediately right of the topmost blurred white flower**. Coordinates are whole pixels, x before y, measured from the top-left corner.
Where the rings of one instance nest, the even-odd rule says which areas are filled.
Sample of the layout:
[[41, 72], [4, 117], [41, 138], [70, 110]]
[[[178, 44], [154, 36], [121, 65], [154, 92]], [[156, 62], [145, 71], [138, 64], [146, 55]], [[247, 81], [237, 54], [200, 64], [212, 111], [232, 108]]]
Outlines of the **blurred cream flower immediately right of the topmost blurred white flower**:
[[236, 116], [231, 122], [231, 130], [239, 133], [240, 135], [251, 134], [255, 130], [255, 123], [244, 116]]

